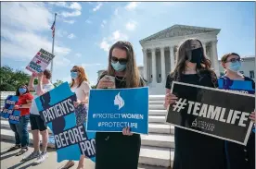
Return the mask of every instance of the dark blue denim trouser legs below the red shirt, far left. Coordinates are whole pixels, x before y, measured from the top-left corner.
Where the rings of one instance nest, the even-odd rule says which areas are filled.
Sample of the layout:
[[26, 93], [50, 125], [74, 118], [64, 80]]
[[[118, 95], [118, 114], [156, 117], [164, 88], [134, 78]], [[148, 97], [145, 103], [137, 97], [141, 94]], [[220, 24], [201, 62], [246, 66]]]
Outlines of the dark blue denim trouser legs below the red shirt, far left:
[[23, 115], [19, 117], [19, 124], [16, 125], [19, 133], [21, 147], [28, 147], [30, 139], [28, 132], [28, 124], [30, 122], [30, 115]]

